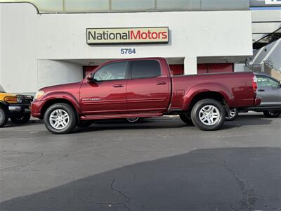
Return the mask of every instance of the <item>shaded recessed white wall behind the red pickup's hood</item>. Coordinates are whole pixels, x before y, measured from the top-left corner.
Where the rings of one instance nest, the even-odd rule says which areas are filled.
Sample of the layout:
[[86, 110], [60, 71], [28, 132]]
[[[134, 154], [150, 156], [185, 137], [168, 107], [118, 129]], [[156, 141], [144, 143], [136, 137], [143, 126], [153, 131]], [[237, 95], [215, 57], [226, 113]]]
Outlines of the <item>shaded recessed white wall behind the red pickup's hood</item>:
[[83, 67], [63, 60], [38, 60], [38, 88], [79, 82]]

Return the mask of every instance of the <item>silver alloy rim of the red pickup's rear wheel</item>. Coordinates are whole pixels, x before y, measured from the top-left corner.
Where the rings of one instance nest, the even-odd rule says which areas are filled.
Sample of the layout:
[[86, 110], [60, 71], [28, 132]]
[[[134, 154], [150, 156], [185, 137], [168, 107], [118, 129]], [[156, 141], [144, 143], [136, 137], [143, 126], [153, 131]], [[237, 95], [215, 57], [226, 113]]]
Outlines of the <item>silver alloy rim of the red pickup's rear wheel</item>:
[[203, 124], [212, 126], [218, 122], [221, 114], [215, 106], [207, 105], [201, 108], [199, 112], [200, 121]]

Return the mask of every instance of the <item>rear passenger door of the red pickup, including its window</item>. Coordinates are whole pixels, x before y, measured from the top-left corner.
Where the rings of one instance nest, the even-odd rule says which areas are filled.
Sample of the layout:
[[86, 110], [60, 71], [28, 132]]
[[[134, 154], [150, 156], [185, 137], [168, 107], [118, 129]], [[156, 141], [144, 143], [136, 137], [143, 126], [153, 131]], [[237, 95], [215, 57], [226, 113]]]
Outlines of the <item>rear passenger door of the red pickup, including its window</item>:
[[162, 112], [169, 106], [169, 76], [162, 75], [157, 60], [129, 64], [127, 108], [129, 113]]

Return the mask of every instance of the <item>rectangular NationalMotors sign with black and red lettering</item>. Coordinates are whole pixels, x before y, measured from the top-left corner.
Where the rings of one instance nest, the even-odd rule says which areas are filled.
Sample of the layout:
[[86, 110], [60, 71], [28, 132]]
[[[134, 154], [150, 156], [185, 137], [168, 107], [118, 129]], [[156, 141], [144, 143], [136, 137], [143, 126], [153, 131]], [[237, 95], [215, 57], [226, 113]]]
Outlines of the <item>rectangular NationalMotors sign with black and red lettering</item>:
[[168, 43], [169, 27], [86, 29], [87, 44]]

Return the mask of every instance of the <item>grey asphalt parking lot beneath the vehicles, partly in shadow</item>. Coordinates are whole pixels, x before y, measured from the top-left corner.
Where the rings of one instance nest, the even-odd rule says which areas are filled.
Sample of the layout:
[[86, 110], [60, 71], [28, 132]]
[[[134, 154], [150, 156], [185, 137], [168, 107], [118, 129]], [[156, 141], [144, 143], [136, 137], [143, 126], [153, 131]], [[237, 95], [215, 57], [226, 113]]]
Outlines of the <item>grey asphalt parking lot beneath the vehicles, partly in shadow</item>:
[[281, 210], [281, 118], [202, 132], [179, 118], [53, 135], [0, 129], [0, 210]]

